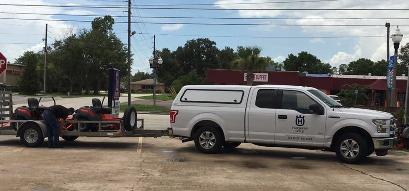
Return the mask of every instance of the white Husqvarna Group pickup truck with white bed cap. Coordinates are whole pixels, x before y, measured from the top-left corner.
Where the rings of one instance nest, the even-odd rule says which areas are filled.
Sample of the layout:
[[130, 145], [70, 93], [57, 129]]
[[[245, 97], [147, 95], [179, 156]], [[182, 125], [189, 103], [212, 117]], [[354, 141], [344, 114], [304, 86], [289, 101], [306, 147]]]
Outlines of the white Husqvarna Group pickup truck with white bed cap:
[[393, 116], [346, 108], [304, 86], [184, 86], [172, 103], [171, 136], [195, 141], [203, 153], [240, 143], [325, 149], [357, 163], [396, 144]]

